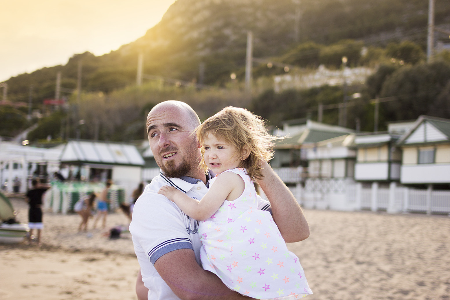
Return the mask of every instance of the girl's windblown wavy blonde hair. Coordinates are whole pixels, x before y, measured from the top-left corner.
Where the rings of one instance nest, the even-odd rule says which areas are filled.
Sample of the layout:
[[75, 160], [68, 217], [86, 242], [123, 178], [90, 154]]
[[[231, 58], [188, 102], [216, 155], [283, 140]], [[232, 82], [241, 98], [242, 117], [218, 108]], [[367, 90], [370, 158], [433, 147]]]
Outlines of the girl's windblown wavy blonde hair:
[[[234, 153], [241, 156], [244, 146], [250, 150], [247, 159], [241, 161], [240, 168], [247, 169], [252, 180], [261, 179], [260, 161], [270, 161], [274, 155], [274, 140], [278, 137], [267, 133], [264, 120], [245, 108], [225, 107], [214, 116], [209, 117], [196, 128], [197, 138], [203, 143], [206, 136], [211, 133], [217, 139], [232, 144], [237, 148]], [[202, 148], [202, 154], [204, 149]], [[207, 170], [207, 165], [202, 156], [200, 166]]]

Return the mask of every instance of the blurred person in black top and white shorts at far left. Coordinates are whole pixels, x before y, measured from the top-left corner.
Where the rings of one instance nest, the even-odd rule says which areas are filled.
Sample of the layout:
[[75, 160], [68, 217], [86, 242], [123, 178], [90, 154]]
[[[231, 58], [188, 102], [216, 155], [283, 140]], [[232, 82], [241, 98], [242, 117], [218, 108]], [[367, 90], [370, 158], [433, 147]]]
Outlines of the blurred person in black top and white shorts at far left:
[[28, 243], [31, 244], [33, 230], [37, 230], [36, 242], [40, 246], [41, 230], [44, 228], [42, 223], [42, 195], [50, 186], [41, 184], [37, 179], [31, 181], [31, 190], [27, 192], [26, 201], [30, 206], [28, 210], [28, 227], [30, 227], [30, 234], [28, 235]]

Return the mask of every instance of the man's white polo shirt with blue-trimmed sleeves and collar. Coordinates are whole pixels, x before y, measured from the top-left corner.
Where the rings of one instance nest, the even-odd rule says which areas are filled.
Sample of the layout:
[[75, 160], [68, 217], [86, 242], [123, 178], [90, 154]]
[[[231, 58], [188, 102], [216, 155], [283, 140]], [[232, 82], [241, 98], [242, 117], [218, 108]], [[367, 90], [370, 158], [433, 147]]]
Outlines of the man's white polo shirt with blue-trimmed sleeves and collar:
[[[200, 264], [202, 242], [198, 235], [198, 221], [191, 219], [174, 202], [157, 193], [164, 185], [173, 186], [194, 199], [201, 199], [207, 193], [207, 186], [201, 180], [186, 176], [182, 178], [168, 178], [160, 173], [145, 187], [133, 209], [130, 233], [142, 281], [148, 288], [148, 299], [151, 300], [180, 299], [153, 267], [162, 255], [178, 249], [192, 249]], [[261, 197], [258, 197], [258, 206], [261, 210], [270, 210], [270, 203]]]

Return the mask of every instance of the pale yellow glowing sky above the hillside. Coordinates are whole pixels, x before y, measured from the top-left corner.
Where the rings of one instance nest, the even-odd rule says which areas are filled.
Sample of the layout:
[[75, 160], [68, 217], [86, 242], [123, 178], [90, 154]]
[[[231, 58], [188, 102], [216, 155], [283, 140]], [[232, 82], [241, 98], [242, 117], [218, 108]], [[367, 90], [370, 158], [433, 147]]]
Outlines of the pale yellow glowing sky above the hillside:
[[0, 0], [0, 82], [73, 54], [109, 53], [156, 25], [175, 0]]

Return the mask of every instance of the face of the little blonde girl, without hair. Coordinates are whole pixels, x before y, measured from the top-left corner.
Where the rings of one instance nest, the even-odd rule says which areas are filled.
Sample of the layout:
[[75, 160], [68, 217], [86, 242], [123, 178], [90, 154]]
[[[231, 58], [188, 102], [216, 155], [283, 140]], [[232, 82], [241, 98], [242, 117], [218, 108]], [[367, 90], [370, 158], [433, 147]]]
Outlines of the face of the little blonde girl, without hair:
[[230, 143], [217, 139], [211, 133], [208, 133], [203, 141], [204, 155], [208, 168], [219, 175], [225, 170], [237, 168], [240, 163], [240, 155], [236, 153], [237, 148]]

